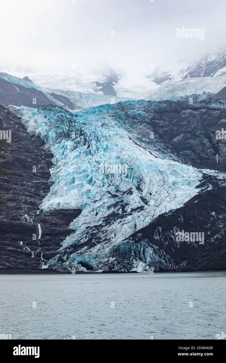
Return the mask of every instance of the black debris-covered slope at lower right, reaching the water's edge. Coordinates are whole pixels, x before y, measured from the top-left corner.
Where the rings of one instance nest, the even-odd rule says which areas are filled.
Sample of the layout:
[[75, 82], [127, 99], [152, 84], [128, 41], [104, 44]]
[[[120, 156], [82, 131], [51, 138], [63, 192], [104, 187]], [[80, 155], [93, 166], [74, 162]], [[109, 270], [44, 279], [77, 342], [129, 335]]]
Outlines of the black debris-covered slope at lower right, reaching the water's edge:
[[[131, 256], [155, 271], [226, 269], [225, 182], [204, 175], [198, 187], [204, 189], [183, 207], [159, 215], [114, 248], [111, 256], [122, 269]], [[204, 232], [204, 244], [176, 241], [175, 231], [194, 229]]]

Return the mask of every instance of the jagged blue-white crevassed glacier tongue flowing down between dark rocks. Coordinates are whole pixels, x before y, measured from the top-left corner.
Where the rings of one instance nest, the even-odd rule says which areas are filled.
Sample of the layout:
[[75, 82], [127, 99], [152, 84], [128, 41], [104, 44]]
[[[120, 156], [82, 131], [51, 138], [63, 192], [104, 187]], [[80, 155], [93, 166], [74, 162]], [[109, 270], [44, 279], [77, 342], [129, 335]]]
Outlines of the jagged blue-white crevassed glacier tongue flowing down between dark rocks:
[[[127, 105], [132, 102], [123, 103]], [[54, 155], [54, 184], [40, 209], [82, 209], [70, 224], [75, 232], [62, 242], [61, 250], [95, 239], [96, 231], [110, 248], [199, 191], [202, 173], [135, 144], [115, 116], [119, 107], [99, 106], [76, 115], [57, 106], [18, 109], [28, 132], [39, 135]], [[104, 163], [126, 165], [127, 175], [100, 172]], [[102, 244], [89, 253], [100, 249]]]

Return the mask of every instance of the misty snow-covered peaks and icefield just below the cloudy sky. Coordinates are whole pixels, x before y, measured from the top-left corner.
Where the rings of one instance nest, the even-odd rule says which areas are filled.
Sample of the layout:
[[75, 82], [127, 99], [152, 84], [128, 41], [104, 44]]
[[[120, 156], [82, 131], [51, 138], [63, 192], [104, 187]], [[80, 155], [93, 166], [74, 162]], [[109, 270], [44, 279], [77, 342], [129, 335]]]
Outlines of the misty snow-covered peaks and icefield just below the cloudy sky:
[[[108, 96], [116, 97], [115, 102], [119, 102], [126, 99], [164, 99], [202, 94], [202, 92], [215, 94], [225, 86], [225, 69], [226, 47], [221, 47], [217, 52], [207, 53], [200, 59], [194, 60], [186, 69], [172, 72], [167, 69], [154, 68], [139, 76], [122, 70], [116, 72], [107, 64], [102, 64], [99, 68], [94, 69], [71, 69], [66, 73], [61, 73], [60, 69], [57, 71], [49, 69], [42, 73], [40, 69], [34, 70], [18, 65], [3, 66], [0, 70], [20, 78], [29, 77], [36, 85], [50, 93], [55, 91], [59, 93], [61, 90], [67, 97], [71, 91], [77, 92], [70, 96], [74, 100], [87, 98], [84, 95], [87, 93], [90, 94], [90, 99], [91, 95], [95, 94], [107, 96], [106, 98], [100, 97], [102, 100], [99, 101], [100, 103], [98, 97], [93, 96], [94, 101], [84, 105], [89, 107], [113, 102]], [[2, 78], [6, 79], [3, 76]]]

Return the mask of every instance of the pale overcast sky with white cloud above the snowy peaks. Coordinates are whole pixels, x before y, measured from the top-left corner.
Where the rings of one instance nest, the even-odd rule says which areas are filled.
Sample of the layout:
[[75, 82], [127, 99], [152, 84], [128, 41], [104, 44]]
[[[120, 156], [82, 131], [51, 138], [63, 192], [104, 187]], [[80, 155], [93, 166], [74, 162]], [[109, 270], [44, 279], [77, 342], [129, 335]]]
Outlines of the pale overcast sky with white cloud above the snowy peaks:
[[[223, 0], [1, 0], [0, 10], [2, 61], [43, 68], [107, 62], [145, 73], [226, 44]], [[204, 28], [204, 41], [176, 38], [182, 26]]]

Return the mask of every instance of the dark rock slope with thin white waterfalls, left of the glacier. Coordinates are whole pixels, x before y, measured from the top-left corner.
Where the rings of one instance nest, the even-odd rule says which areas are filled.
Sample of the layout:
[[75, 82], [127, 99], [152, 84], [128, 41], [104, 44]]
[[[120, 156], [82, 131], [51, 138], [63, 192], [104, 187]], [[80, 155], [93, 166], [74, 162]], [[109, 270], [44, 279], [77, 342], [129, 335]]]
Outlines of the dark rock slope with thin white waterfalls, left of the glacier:
[[0, 268], [37, 269], [57, 253], [80, 211], [38, 209], [52, 185], [53, 155], [1, 105], [0, 129], [12, 130], [11, 142], [0, 140]]

